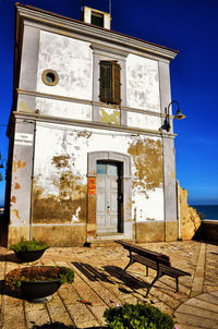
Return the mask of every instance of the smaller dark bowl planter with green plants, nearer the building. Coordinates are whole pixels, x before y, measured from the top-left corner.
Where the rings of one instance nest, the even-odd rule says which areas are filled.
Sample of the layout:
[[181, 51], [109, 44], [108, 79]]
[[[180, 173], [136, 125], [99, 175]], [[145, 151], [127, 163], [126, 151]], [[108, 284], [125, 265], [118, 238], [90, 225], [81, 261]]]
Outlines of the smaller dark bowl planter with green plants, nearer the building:
[[43, 241], [24, 240], [10, 246], [22, 263], [35, 261], [43, 256], [48, 245]]

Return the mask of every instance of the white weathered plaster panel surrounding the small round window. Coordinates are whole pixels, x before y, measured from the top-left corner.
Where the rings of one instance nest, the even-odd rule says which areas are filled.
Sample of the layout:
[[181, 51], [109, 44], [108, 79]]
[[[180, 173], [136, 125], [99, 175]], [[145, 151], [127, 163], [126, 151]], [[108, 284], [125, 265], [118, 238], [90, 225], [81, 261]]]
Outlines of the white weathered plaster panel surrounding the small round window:
[[[37, 92], [92, 99], [93, 59], [89, 42], [40, 31]], [[44, 70], [57, 71], [59, 83], [47, 86]]]

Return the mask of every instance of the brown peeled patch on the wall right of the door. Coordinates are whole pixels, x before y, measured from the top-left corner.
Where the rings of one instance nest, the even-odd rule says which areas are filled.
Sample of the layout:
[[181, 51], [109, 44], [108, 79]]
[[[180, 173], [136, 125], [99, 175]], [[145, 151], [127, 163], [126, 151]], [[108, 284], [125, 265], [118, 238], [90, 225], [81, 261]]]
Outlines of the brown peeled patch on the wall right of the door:
[[147, 191], [160, 187], [164, 182], [161, 142], [135, 138], [128, 153], [135, 166], [133, 188], [140, 187], [140, 191], [148, 197]]

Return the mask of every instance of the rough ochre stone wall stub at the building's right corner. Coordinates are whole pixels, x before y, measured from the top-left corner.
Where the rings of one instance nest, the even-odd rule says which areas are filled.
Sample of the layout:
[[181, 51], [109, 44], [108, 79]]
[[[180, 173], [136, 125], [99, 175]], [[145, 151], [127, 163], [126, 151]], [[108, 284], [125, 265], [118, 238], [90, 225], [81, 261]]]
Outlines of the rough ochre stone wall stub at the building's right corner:
[[187, 191], [179, 186], [180, 200], [180, 233], [182, 240], [191, 240], [201, 226], [201, 218], [196, 209], [187, 204]]

